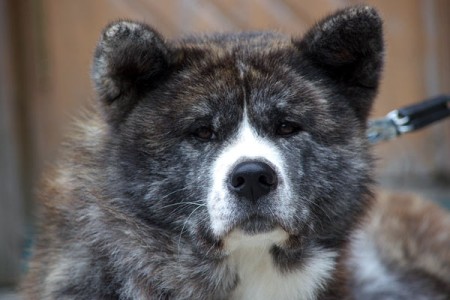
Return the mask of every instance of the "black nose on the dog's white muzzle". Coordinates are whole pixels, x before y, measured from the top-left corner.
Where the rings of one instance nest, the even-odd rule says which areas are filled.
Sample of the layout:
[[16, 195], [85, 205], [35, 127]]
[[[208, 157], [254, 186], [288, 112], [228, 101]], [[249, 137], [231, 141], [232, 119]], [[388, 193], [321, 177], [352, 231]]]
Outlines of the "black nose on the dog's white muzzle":
[[242, 162], [230, 176], [230, 190], [252, 202], [274, 190], [277, 183], [275, 171], [261, 161]]

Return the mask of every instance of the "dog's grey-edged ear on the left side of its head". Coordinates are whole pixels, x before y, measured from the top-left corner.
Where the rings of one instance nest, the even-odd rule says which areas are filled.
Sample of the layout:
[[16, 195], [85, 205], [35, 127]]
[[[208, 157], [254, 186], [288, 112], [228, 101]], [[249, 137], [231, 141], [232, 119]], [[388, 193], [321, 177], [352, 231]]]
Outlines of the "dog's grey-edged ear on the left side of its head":
[[118, 21], [105, 28], [94, 54], [92, 78], [109, 123], [117, 125], [139, 95], [168, 72], [169, 49], [151, 27]]

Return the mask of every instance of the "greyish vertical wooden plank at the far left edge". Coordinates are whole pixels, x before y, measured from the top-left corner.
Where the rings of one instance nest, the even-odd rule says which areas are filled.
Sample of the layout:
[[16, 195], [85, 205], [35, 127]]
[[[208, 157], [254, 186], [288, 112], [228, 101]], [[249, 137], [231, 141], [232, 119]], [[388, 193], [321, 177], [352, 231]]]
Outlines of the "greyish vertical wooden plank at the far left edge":
[[20, 274], [24, 229], [9, 12], [7, 1], [0, 0], [0, 285], [14, 283]]

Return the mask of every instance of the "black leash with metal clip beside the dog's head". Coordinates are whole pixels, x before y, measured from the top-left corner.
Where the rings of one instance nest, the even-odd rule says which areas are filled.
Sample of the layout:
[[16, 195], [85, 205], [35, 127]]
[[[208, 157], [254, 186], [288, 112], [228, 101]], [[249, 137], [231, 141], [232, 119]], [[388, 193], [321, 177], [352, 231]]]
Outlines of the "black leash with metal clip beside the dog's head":
[[377, 144], [416, 131], [449, 116], [450, 95], [440, 95], [391, 111], [384, 118], [370, 120], [367, 137], [370, 143]]

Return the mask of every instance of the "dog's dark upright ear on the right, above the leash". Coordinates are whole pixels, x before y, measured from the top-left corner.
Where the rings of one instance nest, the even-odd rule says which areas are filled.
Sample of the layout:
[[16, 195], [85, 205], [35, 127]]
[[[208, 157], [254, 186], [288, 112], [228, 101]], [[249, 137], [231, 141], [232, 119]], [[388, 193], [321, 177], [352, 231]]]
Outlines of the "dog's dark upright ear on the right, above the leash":
[[293, 42], [302, 59], [331, 78], [365, 121], [383, 66], [382, 21], [377, 11], [367, 6], [343, 9]]

